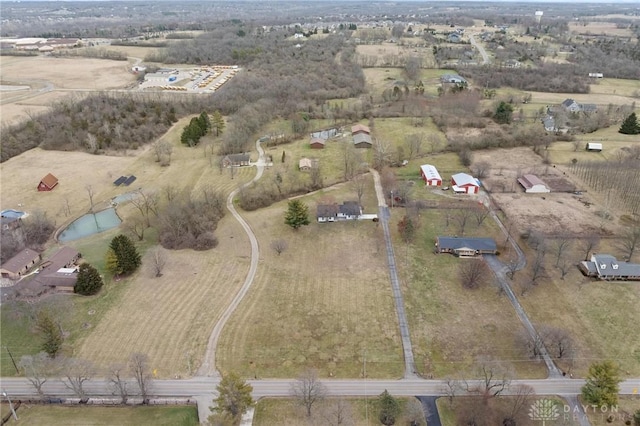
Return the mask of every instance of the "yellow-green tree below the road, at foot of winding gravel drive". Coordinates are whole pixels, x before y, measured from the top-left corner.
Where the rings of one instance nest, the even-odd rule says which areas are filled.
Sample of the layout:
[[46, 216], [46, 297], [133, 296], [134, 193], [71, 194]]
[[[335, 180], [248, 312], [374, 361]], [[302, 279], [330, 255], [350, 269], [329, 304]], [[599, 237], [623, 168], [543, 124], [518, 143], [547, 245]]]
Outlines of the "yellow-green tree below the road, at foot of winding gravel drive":
[[230, 418], [232, 424], [239, 424], [242, 415], [253, 405], [251, 397], [253, 387], [237, 374], [229, 373], [222, 377], [216, 390], [218, 397], [213, 400], [215, 406], [211, 407], [211, 411], [217, 413], [218, 416], [214, 415], [210, 419]]

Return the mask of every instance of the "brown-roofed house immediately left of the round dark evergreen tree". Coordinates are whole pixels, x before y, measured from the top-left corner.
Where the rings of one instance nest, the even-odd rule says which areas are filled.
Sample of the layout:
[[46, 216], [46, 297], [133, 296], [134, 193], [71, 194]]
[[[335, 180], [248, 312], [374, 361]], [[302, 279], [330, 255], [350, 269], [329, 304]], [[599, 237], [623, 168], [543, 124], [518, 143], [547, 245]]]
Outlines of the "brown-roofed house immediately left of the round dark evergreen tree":
[[71, 247], [62, 247], [42, 262], [35, 281], [46, 287], [73, 291], [78, 280], [77, 262], [82, 255]]

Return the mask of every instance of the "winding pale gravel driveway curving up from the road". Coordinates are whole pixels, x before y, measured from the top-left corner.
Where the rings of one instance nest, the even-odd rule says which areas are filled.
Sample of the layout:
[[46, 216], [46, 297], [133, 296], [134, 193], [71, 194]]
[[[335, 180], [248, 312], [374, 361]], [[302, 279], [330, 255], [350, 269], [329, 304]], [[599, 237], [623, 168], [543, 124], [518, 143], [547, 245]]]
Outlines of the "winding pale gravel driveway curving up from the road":
[[266, 165], [266, 158], [264, 157], [264, 150], [260, 146], [260, 141], [256, 141], [256, 149], [258, 150], [258, 162], [256, 163], [256, 167], [258, 172], [256, 176], [249, 182], [242, 185], [240, 188], [234, 190], [227, 197], [227, 209], [231, 212], [233, 217], [236, 218], [240, 225], [244, 228], [244, 231], [247, 233], [249, 237], [249, 241], [251, 242], [251, 264], [249, 265], [249, 272], [244, 280], [244, 284], [240, 288], [240, 291], [235, 295], [231, 303], [227, 306], [227, 309], [224, 311], [215, 327], [213, 327], [213, 331], [211, 332], [211, 336], [209, 336], [209, 342], [207, 343], [207, 351], [204, 355], [204, 359], [202, 361], [202, 365], [198, 369], [199, 376], [218, 376], [218, 371], [216, 370], [216, 346], [218, 345], [218, 339], [220, 338], [220, 334], [222, 333], [222, 329], [225, 324], [231, 317], [231, 314], [236, 310], [240, 302], [244, 298], [244, 296], [249, 291], [251, 284], [253, 283], [253, 278], [256, 276], [256, 271], [258, 270], [258, 259], [260, 258], [260, 247], [258, 246], [258, 239], [255, 234], [251, 230], [249, 224], [240, 216], [235, 206], [233, 205], [233, 199], [238, 194], [238, 191], [245, 186], [252, 184], [253, 182], [259, 180], [262, 177], [262, 173], [264, 173], [264, 168]]

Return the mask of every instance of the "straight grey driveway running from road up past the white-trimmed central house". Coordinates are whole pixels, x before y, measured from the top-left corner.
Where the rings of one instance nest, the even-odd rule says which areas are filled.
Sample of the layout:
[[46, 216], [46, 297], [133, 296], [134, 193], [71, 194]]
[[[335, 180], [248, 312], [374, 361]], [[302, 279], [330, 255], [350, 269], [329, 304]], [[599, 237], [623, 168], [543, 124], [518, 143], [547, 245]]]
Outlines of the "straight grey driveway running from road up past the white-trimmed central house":
[[370, 169], [373, 175], [373, 182], [378, 197], [379, 218], [384, 232], [384, 241], [387, 246], [387, 262], [389, 264], [389, 278], [391, 279], [391, 290], [393, 291], [393, 301], [396, 306], [396, 314], [398, 315], [398, 323], [400, 325], [400, 337], [402, 339], [402, 350], [404, 352], [404, 377], [410, 379], [417, 377], [416, 364], [413, 359], [413, 346], [411, 345], [411, 335], [409, 334], [409, 323], [404, 310], [404, 299], [402, 298], [402, 290], [398, 281], [398, 271], [396, 269], [396, 259], [393, 252], [393, 244], [391, 243], [391, 234], [389, 233], [389, 217], [390, 212], [385, 201], [382, 184], [380, 183], [380, 174], [377, 170]]

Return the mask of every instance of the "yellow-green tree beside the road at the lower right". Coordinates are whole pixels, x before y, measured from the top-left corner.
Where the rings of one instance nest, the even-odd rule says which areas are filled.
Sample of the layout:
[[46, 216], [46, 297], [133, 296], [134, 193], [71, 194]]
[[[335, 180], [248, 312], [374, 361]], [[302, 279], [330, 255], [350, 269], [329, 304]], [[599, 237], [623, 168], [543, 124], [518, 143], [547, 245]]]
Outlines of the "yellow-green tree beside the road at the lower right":
[[621, 381], [620, 369], [612, 361], [593, 363], [589, 367], [587, 382], [582, 387], [582, 398], [598, 407], [616, 405]]

